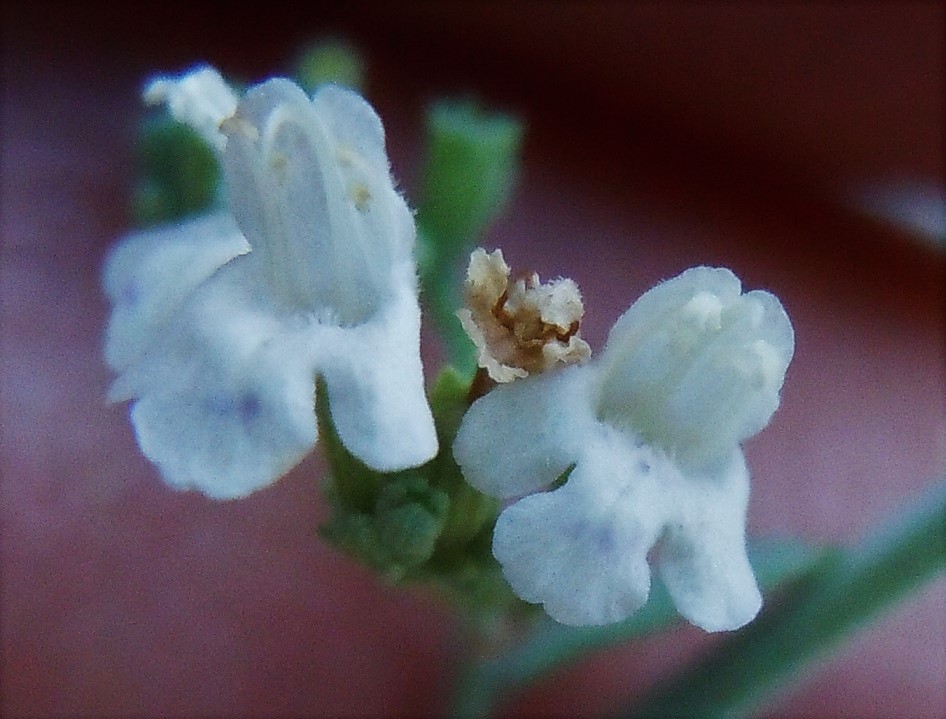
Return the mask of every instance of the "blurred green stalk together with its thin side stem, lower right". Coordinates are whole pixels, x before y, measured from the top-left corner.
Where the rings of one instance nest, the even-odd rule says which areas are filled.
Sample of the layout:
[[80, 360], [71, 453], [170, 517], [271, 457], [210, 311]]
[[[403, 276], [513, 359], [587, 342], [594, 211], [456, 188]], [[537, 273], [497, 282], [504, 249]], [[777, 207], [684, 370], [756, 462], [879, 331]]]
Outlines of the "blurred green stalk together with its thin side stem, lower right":
[[[670, 677], [624, 715], [745, 716], [885, 608], [946, 568], [946, 481], [890, 526], [852, 549], [750, 542], [759, 582], [774, 600], [751, 624]], [[543, 620], [522, 642], [461, 672], [451, 716], [488, 717], [511, 692], [594, 651], [670, 627], [676, 614], [655, 582], [625, 622], [570, 628]]]

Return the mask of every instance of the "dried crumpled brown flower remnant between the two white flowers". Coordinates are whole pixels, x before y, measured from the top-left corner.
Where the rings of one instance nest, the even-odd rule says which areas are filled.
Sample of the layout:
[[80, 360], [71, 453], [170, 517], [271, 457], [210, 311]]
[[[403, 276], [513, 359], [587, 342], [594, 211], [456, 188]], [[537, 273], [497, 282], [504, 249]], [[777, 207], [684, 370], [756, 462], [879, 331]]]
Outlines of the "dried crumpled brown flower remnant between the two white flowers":
[[458, 312], [476, 344], [477, 363], [496, 382], [546, 372], [556, 364], [584, 362], [591, 348], [579, 332], [584, 314], [574, 280], [542, 283], [539, 276], [509, 282], [502, 250], [470, 255], [466, 304]]

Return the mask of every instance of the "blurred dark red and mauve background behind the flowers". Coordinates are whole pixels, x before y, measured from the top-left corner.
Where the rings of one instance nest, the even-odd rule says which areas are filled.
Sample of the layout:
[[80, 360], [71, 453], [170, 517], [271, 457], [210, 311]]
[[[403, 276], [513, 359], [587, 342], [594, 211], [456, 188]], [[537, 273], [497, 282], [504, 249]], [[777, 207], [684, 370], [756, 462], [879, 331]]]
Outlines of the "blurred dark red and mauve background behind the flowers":
[[[473, 90], [521, 113], [523, 176], [487, 241], [573, 276], [596, 349], [690, 265], [777, 293], [797, 353], [747, 448], [753, 534], [853, 542], [946, 472], [946, 255], [842, 202], [871, 182], [942, 196], [941, 4], [4, 13], [3, 716], [437, 716], [462, 656], [448, 608], [315, 535], [317, 453], [214, 504], [165, 488], [105, 403], [99, 271], [128, 226], [154, 71], [260, 79], [300, 41], [348, 34], [409, 195], [429, 99]], [[944, 605], [940, 578], [760, 715], [943, 716]], [[609, 650], [503, 713], [615, 710], [712, 642], [684, 627]]]

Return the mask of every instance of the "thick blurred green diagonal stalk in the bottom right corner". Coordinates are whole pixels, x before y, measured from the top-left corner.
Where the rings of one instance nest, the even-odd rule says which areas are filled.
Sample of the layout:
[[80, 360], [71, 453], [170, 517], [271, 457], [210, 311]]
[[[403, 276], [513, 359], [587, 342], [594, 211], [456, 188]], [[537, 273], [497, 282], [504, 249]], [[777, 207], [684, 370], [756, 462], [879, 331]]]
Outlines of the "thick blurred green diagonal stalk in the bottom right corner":
[[629, 717], [739, 717], [812, 660], [946, 568], [946, 482], [860, 548], [839, 551], [788, 596]]

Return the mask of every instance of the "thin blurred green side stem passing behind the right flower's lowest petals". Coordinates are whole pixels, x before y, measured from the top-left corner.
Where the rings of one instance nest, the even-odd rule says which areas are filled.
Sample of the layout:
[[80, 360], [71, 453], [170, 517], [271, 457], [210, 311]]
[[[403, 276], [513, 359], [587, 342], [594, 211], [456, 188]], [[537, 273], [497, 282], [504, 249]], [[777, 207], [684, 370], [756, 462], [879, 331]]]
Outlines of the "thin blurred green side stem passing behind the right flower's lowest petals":
[[[776, 540], [752, 542], [749, 553], [765, 591], [797, 577], [824, 556], [824, 550]], [[667, 629], [678, 620], [670, 596], [659, 582], [654, 582], [647, 604], [619, 624], [566, 627], [543, 616], [521, 643], [466, 668], [456, 685], [449, 714], [488, 717], [500, 701], [558, 667], [606, 647]]]

